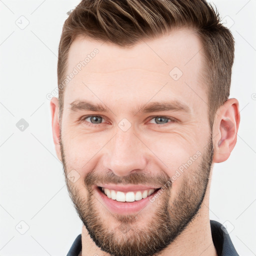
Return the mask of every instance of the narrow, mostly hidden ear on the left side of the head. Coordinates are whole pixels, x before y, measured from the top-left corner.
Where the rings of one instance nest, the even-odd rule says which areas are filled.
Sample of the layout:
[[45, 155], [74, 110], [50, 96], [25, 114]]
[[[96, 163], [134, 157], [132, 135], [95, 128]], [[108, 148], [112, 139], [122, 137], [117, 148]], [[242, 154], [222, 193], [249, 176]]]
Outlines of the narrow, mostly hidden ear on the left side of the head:
[[51, 127], [52, 127], [52, 136], [53, 142], [55, 145], [55, 151], [58, 159], [61, 161], [61, 152], [60, 152], [60, 129], [59, 129], [59, 109], [58, 109], [58, 99], [53, 97], [50, 100], [50, 111], [51, 111]]

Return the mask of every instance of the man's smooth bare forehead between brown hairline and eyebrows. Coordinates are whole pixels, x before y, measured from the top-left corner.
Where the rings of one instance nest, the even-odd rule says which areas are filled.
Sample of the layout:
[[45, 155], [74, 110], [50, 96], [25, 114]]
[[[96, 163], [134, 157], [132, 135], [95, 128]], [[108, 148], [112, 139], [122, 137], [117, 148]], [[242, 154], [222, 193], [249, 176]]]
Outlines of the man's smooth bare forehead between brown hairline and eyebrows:
[[207, 101], [200, 79], [201, 47], [190, 29], [141, 40], [131, 48], [79, 36], [68, 52], [66, 74], [75, 74], [65, 85], [64, 105], [83, 98], [120, 99], [125, 104], [164, 97], [198, 107]]

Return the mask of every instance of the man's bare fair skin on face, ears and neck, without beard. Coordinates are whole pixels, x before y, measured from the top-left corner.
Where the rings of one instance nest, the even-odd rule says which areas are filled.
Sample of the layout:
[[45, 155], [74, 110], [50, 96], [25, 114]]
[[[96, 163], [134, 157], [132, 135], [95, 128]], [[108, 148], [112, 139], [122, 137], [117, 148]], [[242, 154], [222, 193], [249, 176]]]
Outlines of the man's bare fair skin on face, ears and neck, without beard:
[[[58, 99], [53, 97], [50, 102], [57, 156], [64, 163], [66, 174], [72, 169], [79, 174], [74, 183], [67, 180], [69, 192], [73, 195], [76, 193], [76, 198], [83, 198], [86, 203], [89, 193], [94, 191], [84, 185], [85, 177], [89, 173], [99, 177], [102, 171], [110, 171], [120, 178], [134, 173], [145, 173], [153, 180], [161, 175], [172, 177], [189, 157], [197, 151], [201, 155], [205, 152], [209, 138], [214, 148], [212, 166], [229, 157], [236, 143], [240, 121], [238, 101], [229, 98], [218, 108], [211, 133], [207, 118], [206, 85], [200, 79], [200, 69], [203, 67], [203, 55], [199, 51], [201, 46], [199, 38], [186, 28], [147, 40], [146, 44], [141, 41], [129, 49], [83, 37], [77, 37], [72, 42], [67, 73], [94, 48], [99, 53], [65, 86], [61, 119], [62, 152]], [[176, 81], [169, 75], [174, 66], [183, 73]], [[111, 111], [70, 111], [71, 102], [85, 99], [93, 103], [103, 102]], [[185, 103], [190, 112], [168, 110], [136, 113], [138, 105], [172, 100]], [[102, 123], [95, 126], [90, 118], [78, 121], [85, 115], [101, 116]], [[164, 125], [156, 124], [155, 116], [167, 116], [176, 121], [167, 119], [168, 123]], [[131, 124], [126, 131], [118, 126], [123, 118]], [[130, 223], [131, 230], [135, 227], [146, 230], [164, 199], [167, 198], [168, 205], [173, 205], [184, 187], [184, 181], [199, 178], [195, 171], [201, 162], [202, 156], [172, 182], [170, 190], [162, 193], [149, 207], [143, 208], [137, 214], [136, 223]], [[185, 231], [157, 255], [217, 255], [209, 224], [211, 175], [212, 171], [201, 207], [186, 225]], [[143, 184], [150, 185], [146, 180]], [[125, 239], [125, 233], [118, 229], [121, 218], [107, 211], [95, 197], [91, 199], [94, 200], [94, 209], [104, 220], [105, 228], [114, 231], [116, 237]], [[132, 231], [129, 235], [132, 235]], [[83, 226], [82, 255], [96, 254], [110, 255], [96, 246]]]

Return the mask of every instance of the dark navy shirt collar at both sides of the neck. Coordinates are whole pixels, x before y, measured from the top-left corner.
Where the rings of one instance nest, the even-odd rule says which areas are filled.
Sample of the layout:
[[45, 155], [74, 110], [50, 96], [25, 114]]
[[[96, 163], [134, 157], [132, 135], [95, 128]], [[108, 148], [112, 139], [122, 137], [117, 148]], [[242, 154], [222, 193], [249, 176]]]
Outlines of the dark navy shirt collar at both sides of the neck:
[[[211, 229], [211, 236], [213, 244], [216, 248], [218, 256], [239, 256], [236, 252], [234, 245], [228, 235], [227, 230], [221, 223], [210, 220], [210, 229]], [[70, 250], [67, 253], [67, 256], [78, 256], [82, 249], [81, 243], [81, 234], [79, 234]]]

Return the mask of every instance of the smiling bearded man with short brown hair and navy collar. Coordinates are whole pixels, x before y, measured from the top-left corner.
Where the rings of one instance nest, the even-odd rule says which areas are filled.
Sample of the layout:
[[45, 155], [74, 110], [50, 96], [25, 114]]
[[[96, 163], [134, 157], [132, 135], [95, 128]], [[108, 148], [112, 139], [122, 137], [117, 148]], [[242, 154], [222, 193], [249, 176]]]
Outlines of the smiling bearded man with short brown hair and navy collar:
[[63, 25], [52, 131], [82, 220], [68, 255], [238, 255], [209, 220], [240, 121], [234, 41], [204, 0], [82, 0]]

